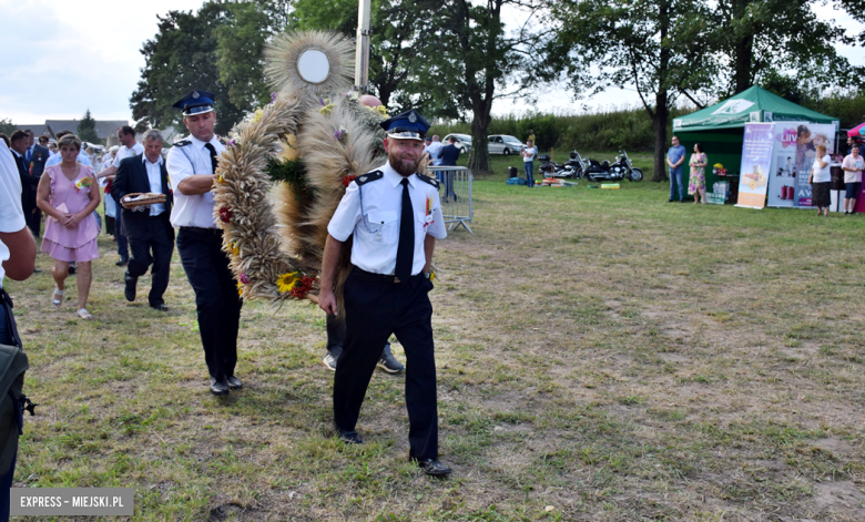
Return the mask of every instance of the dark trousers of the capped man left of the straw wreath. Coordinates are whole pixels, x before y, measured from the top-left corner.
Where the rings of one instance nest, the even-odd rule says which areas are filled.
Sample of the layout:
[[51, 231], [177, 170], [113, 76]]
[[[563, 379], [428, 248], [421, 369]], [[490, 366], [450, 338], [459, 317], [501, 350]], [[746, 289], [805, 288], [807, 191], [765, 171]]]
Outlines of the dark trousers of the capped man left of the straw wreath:
[[222, 252], [222, 231], [182, 226], [177, 252], [195, 290], [199, 330], [207, 371], [214, 379], [234, 375], [237, 365], [237, 329], [243, 301], [237, 283]]

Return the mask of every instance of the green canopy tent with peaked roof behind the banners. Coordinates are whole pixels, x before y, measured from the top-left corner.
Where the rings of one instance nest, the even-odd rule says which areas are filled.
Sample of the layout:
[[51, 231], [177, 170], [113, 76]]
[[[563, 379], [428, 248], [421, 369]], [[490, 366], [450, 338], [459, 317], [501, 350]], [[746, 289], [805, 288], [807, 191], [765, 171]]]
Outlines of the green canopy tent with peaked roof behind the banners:
[[[727, 174], [739, 174], [745, 123], [753, 122], [835, 123], [837, 126], [836, 119], [784, 100], [757, 85], [715, 105], [674, 119], [673, 134], [688, 151], [686, 157], [691, 157], [698, 142], [709, 156], [705, 172], [708, 192], [712, 192], [716, 181], [724, 180], [712, 174], [715, 163], [723, 164]], [[688, 162], [684, 166], [683, 177], [686, 178]], [[686, 180], [682, 181], [688, 184]]]

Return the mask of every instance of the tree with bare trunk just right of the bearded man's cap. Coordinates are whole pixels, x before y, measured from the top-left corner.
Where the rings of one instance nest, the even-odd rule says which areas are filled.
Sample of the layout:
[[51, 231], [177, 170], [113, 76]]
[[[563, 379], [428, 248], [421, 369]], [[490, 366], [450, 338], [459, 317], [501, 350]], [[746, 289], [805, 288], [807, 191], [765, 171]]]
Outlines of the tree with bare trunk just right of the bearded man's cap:
[[[530, 21], [541, 11], [535, 0], [421, 0], [426, 47], [420, 76], [424, 94], [454, 103], [471, 114], [472, 171], [489, 171], [487, 134], [495, 100], [526, 95], [537, 82], [531, 70], [543, 61], [541, 37]], [[522, 14], [523, 23], [507, 34], [502, 9]], [[510, 89], [510, 91], [503, 91]]]

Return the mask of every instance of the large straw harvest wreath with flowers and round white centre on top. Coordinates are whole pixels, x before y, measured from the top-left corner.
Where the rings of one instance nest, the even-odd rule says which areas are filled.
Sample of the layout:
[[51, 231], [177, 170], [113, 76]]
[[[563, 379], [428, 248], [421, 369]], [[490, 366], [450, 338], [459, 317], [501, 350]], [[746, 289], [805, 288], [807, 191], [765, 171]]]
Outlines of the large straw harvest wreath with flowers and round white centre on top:
[[[353, 176], [385, 161], [378, 123], [386, 114], [345, 94], [352, 44], [339, 35], [283, 34], [265, 58], [276, 92], [220, 155], [214, 217], [244, 299], [317, 301], [327, 224]], [[350, 269], [350, 248], [343, 252], [340, 308]]]

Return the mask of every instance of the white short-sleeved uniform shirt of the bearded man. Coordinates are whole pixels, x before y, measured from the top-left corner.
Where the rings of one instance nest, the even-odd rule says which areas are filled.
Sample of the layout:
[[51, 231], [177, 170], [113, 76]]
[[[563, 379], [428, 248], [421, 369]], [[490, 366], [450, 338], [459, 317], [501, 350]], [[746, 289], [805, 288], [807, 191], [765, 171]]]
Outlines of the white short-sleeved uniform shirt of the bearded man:
[[[358, 186], [355, 182], [348, 185], [327, 225], [327, 232], [340, 242], [354, 234], [352, 264], [366, 272], [390, 275], [396, 269], [399, 244], [403, 176], [394, 171], [390, 162], [378, 170], [384, 173], [381, 180], [368, 182], [364, 186]], [[440, 239], [447, 236], [447, 229], [441, 215], [441, 201], [435, 186], [411, 174], [408, 176], [408, 195], [415, 215], [411, 275], [416, 275], [427, 263], [424, 253], [425, 236], [429, 234]]]

